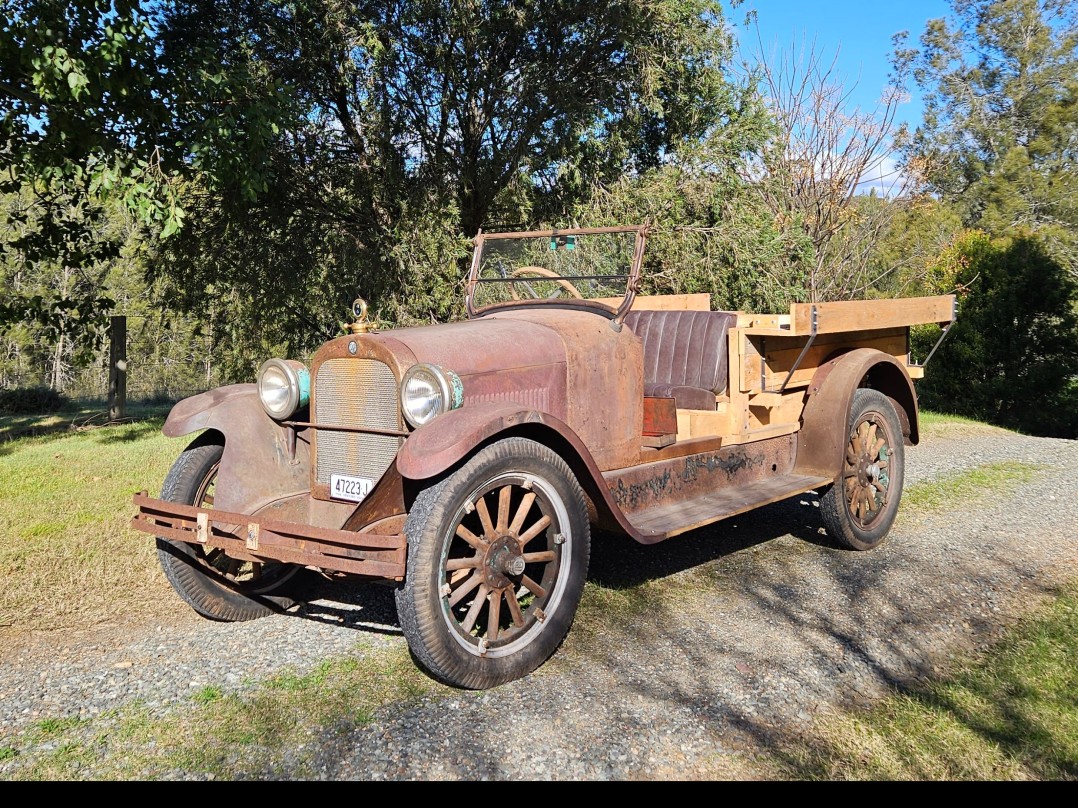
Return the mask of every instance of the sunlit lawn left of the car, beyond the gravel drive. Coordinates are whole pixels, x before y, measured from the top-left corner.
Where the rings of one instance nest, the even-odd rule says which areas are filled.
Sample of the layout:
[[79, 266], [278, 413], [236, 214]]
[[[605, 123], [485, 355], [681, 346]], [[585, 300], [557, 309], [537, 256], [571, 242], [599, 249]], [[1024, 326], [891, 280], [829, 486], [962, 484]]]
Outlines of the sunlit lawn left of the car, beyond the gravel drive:
[[128, 527], [132, 496], [158, 490], [186, 444], [164, 437], [162, 422], [65, 427], [0, 443], [0, 628], [128, 619], [167, 597], [153, 541]]

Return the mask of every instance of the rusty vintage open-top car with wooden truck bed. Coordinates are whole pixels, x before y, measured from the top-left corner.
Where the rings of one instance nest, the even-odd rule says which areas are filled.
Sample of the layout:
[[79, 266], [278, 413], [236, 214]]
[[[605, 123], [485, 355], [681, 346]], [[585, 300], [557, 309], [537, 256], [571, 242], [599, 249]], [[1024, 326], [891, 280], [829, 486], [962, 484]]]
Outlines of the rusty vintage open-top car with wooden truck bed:
[[358, 301], [309, 367], [179, 402], [165, 434], [197, 436], [133, 520], [176, 591], [246, 621], [304, 570], [389, 583], [417, 663], [486, 688], [563, 642], [593, 526], [651, 544], [817, 491], [838, 545], [879, 545], [917, 442], [910, 326], [945, 333], [954, 297], [716, 311], [637, 295], [647, 235], [481, 233], [467, 319], [382, 331]]

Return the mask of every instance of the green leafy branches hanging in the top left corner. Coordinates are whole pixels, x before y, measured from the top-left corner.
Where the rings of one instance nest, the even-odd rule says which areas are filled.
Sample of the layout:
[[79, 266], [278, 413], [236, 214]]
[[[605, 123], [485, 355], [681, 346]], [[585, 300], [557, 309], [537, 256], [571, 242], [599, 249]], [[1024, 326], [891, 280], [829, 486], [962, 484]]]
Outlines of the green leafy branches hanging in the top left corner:
[[[5, 207], [0, 250], [30, 270], [107, 261], [122, 246], [102, 232], [110, 201], [163, 236], [176, 232], [182, 210], [156, 137], [167, 116], [164, 74], [140, 3], [0, 0], [0, 193], [18, 200]], [[9, 289], [0, 326], [93, 331], [110, 305], [99, 290]]]

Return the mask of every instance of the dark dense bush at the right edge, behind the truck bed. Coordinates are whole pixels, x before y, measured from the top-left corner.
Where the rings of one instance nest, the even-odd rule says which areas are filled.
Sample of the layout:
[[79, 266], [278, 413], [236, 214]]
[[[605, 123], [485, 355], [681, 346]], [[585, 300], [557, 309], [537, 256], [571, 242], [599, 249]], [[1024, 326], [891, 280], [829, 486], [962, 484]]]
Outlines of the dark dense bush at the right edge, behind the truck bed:
[[[1075, 282], [1031, 234], [962, 234], [931, 267], [958, 319], [918, 385], [923, 406], [1040, 435], [1078, 436]], [[924, 357], [937, 333], [916, 334]]]

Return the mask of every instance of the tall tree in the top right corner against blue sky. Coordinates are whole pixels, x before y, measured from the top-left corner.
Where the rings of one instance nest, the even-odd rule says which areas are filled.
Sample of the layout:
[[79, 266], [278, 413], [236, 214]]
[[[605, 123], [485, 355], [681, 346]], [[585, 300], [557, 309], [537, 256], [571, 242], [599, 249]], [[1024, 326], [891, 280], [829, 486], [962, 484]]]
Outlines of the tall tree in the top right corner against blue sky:
[[904, 144], [927, 189], [993, 234], [1024, 228], [1078, 274], [1078, 5], [952, 0], [896, 69], [925, 93]]

